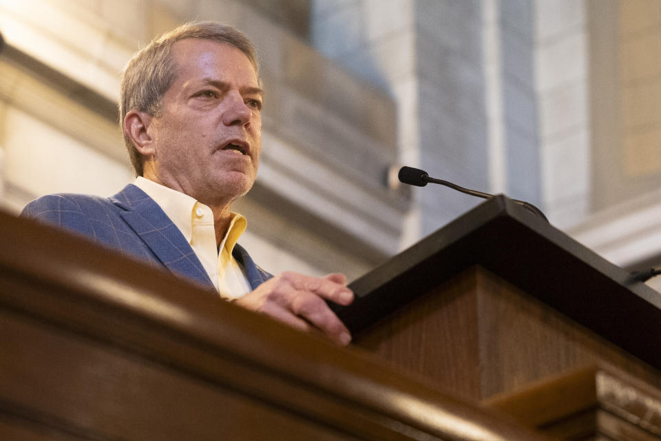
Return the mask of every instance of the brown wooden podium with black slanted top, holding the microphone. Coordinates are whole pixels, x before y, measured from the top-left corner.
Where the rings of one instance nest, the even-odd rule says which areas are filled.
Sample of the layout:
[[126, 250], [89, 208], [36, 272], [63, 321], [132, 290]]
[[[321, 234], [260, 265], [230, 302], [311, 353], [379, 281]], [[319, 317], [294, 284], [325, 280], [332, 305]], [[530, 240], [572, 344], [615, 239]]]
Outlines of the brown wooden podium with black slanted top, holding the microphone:
[[661, 439], [661, 294], [505, 196], [351, 287], [354, 344], [401, 372], [563, 439]]

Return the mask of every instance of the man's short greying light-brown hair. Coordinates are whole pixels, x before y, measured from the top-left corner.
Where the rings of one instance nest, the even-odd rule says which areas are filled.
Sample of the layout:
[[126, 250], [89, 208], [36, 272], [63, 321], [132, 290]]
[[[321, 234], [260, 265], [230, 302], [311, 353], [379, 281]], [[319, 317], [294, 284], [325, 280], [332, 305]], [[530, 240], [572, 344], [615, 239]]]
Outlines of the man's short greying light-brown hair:
[[[259, 72], [255, 48], [242, 32], [215, 21], [182, 24], [136, 52], [124, 68], [119, 102], [119, 124], [122, 131], [124, 118], [131, 110], [145, 112], [151, 116], [158, 116], [160, 113], [162, 97], [178, 75], [178, 66], [170, 56], [170, 50], [174, 43], [183, 39], [204, 39], [232, 45], [246, 54], [255, 72]], [[136, 176], [143, 176], [143, 158], [140, 152], [126, 134], [124, 143]]]

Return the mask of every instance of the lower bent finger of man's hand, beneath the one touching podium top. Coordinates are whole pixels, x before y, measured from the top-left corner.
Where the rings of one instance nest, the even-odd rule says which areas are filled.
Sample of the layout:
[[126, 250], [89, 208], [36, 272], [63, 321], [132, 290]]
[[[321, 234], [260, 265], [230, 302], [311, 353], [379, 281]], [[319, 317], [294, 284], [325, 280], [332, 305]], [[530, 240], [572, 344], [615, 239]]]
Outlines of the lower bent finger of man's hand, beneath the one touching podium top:
[[293, 314], [310, 322], [337, 344], [346, 346], [351, 341], [351, 334], [344, 323], [319, 296], [309, 291], [297, 291], [291, 298], [291, 310]]

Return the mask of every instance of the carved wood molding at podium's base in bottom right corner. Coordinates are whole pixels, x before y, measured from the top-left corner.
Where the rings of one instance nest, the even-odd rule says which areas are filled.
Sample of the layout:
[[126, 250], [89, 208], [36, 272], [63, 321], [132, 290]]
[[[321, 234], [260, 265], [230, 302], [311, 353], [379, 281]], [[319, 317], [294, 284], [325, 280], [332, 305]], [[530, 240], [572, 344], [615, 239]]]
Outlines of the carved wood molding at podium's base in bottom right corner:
[[606, 365], [544, 379], [484, 404], [560, 440], [661, 440], [661, 391]]

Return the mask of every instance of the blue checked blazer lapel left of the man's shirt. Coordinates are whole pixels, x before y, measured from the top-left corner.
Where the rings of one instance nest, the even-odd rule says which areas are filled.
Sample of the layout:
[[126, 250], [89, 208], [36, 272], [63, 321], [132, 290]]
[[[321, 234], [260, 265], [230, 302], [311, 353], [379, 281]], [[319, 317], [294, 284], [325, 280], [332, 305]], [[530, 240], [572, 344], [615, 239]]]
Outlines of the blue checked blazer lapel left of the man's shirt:
[[170, 271], [213, 287], [195, 252], [154, 199], [133, 184], [111, 198], [125, 222]]

